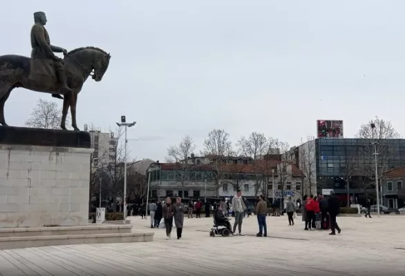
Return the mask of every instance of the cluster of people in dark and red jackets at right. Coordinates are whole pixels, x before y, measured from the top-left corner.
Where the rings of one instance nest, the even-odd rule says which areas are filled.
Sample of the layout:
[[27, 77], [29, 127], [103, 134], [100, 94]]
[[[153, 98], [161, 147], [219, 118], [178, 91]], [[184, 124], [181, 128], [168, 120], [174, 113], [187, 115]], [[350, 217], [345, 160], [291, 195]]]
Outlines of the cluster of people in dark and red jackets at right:
[[[313, 195], [304, 195], [302, 204], [302, 221], [305, 221], [304, 230], [315, 230], [317, 228], [328, 230], [330, 234], [341, 233], [341, 228], [337, 224], [336, 217], [340, 212], [340, 201], [333, 191], [330, 197], [326, 199], [322, 195], [314, 197]], [[320, 224], [317, 227], [317, 224]]]

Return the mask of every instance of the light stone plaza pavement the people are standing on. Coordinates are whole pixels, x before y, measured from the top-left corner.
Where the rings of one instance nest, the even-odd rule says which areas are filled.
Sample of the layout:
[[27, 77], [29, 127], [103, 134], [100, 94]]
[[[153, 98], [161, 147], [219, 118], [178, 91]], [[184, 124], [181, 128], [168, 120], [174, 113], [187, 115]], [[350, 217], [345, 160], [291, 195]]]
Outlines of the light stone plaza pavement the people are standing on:
[[149, 228], [149, 217], [131, 222], [134, 232], [156, 233], [154, 242], [0, 250], [0, 276], [405, 275], [405, 216], [338, 217], [336, 236], [304, 231], [301, 217], [295, 226], [267, 217], [269, 237], [255, 237], [256, 217], [244, 219], [241, 237], [209, 237], [212, 218], [185, 218], [180, 240]]

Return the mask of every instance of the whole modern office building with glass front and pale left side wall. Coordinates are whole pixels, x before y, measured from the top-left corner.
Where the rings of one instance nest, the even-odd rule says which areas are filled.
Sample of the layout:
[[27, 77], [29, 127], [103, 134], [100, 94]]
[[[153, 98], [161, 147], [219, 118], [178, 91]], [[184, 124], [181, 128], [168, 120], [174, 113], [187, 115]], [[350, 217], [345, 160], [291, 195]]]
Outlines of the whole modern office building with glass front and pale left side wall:
[[291, 148], [284, 158], [294, 162], [307, 181], [311, 179], [316, 184], [318, 193], [322, 189], [333, 189], [346, 201], [349, 192], [352, 201], [361, 204], [366, 197], [375, 197], [375, 150], [380, 181], [388, 170], [405, 165], [405, 139], [373, 142], [370, 139], [313, 139]]

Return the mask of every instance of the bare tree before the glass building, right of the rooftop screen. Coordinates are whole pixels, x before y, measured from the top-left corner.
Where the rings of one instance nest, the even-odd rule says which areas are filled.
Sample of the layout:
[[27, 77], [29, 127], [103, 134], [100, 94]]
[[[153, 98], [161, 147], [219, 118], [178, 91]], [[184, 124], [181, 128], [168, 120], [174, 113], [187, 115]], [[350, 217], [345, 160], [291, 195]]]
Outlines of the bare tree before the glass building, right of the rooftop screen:
[[[383, 175], [390, 169], [395, 168], [399, 164], [395, 164], [390, 157], [393, 156], [393, 148], [390, 148], [387, 139], [399, 139], [400, 135], [395, 130], [390, 121], [379, 119], [375, 117], [368, 121], [368, 124], [360, 126], [357, 138], [366, 139], [364, 143], [363, 156], [364, 156], [364, 168], [363, 174], [369, 179], [376, 179], [375, 177], [375, 153], [377, 153], [377, 182], [383, 177]], [[366, 185], [363, 188], [367, 188], [373, 181], [364, 179], [363, 183]]]

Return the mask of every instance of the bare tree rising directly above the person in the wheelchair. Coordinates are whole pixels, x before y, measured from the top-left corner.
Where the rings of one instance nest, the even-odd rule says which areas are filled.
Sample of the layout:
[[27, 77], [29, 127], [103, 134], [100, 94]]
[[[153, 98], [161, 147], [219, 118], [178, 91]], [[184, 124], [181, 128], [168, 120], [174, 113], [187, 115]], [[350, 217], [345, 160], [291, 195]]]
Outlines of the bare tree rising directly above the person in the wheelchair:
[[225, 157], [232, 153], [232, 142], [229, 139], [229, 133], [223, 129], [211, 130], [208, 138], [203, 142], [202, 155], [207, 157], [211, 162], [212, 182], [216, 188], [216, 197], [218, 197], [221, 180], [223, 179], [223, 168]]

